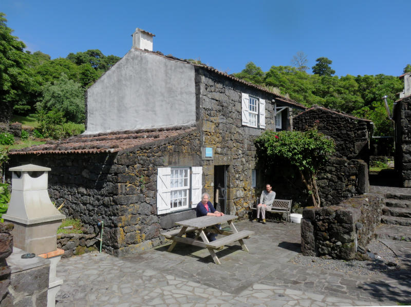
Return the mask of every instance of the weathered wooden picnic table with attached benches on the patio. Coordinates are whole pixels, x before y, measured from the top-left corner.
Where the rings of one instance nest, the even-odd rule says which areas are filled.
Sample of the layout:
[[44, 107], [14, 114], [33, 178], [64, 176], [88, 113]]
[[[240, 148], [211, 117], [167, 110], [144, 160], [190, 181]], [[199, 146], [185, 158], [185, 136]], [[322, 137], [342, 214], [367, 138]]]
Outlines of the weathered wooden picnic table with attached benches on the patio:
[[[224, 245], [238, 241], [242, 247], [242, 250], [248, 252], [248, 248], [242, 239], [247, 239], [254, 234], [254, 232], [252, 231], [238, 232], [233, 223], [235, 219], [237, 219], [237, 216], [235, 215], [224, 215], [219, 217], [203, 216], [199, 218], [184, 220], [176, 222], [177, 225], [182, 226], [181, 229], [175, 229], [174, 231], [162, 233], [161, 235], [173, 240], [173, 243], [169, 247], [169, 252], [173, 251], [173, 248], [176, 246], [177, 242], [200, 246], [208, 249], [215, 263], [221, 264], [214, 250], [218, 250]], [[231, 231], [219, 229], [218, 226], [225, 222], [228, 223]], [[194, 239], [183, 237], [183, 235], [193, 232], [195, 233]], [[206, 233], [214, 233], [222, 235], [223, 237], [210, 242], [207, 238]]]

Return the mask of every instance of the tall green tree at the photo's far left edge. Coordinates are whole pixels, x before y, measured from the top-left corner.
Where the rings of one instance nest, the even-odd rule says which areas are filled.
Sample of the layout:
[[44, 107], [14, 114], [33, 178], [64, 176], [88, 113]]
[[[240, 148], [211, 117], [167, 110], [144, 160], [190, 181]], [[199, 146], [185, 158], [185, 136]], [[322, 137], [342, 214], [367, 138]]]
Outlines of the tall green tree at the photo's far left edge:
[[0, 13], [0, 121], [8, 122], [12, 109], [29, 83], [25, 69], [26, 47], [18, 37], [11, 35], [4, 13]]

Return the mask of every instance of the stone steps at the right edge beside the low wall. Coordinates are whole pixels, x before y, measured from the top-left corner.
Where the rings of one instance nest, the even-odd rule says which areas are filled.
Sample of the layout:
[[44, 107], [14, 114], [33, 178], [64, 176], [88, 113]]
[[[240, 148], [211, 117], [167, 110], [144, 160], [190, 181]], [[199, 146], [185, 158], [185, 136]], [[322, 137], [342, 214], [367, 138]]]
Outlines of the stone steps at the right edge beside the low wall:
[[411, 188], [370, 186], [370, 193], [383, 197], [381, 223], [376, 229], [380, 239], [411, 241]]

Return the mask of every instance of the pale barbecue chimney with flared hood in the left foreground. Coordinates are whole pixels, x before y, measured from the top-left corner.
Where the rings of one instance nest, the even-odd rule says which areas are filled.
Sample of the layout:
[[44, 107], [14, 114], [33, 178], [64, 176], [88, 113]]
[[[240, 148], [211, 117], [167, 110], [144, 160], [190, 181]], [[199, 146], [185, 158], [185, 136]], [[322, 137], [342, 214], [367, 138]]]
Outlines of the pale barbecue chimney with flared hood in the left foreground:
[[11, 198], [3, 218], [14, 224], [14, 246], [35, 255], [57, 250], [57, 228], [65, 218], [47, 191], [51, 168], [27, 164], [11, 167]]

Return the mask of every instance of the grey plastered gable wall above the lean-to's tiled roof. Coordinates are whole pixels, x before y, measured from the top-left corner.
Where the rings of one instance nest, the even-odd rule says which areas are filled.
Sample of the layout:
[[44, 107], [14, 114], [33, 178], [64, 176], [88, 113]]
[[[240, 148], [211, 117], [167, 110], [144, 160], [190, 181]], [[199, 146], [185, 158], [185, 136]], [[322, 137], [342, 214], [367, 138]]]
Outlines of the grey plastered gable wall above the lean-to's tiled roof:
[[86, 134], [195, 123], [194, 66], [131, 49], [87, 90]]

